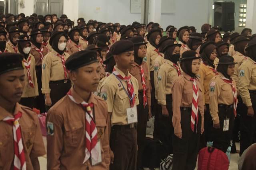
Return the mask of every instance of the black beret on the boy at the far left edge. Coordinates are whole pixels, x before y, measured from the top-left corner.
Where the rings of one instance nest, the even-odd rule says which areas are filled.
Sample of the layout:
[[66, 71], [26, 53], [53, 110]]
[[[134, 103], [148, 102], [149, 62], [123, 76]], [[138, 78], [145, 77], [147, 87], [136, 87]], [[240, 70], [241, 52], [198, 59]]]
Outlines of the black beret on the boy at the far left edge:
[[0, 54], [0, 74], [24, 69], [22, 65], [23, 56], [18, 53]]

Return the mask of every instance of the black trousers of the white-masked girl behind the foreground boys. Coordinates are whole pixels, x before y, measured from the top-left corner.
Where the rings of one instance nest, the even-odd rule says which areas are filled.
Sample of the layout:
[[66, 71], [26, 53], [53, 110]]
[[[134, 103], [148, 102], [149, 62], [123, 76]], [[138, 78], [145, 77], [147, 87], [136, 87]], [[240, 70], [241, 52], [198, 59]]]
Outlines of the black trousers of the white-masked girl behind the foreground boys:
[[[53, 106], [61, 98], [66, 96], [66, 94], [71, 88], [71, 82], [70, 80], [67, 80], [67, 82], [64, 82], [64, 80], [50, 81], [49, 86], [51, 89], [50, 98], [52, 100], [52, 106]], [[46, 106], [46, 111], [48, 111], [48, 109], [50, 108]]]

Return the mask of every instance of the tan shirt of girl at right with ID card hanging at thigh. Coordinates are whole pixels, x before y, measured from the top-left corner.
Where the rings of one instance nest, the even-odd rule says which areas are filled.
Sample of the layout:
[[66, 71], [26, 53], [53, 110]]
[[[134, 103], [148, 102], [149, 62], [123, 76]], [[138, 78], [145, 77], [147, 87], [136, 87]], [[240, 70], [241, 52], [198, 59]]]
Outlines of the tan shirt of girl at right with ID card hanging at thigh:
[[[230, 84], [224, 82], [222, 77], [224, 77], [220, 72], [212, 78], [209, 84], [210, 89], [210, 113], [212, 116], [212, 121], [214, 124], [220, 123], [218, 116], [218, 104], [232, 105], [234, 104], [233, 90]], [[232, 81], [234, 87], [236, 88], [236, 83]]]

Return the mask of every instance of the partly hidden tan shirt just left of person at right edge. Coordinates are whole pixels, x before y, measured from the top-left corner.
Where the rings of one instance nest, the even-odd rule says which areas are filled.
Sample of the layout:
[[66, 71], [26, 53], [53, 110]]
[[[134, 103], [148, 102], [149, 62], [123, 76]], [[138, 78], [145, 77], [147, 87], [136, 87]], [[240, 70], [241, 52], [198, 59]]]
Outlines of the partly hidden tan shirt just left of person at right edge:
[[233, 55], [234, 62], [237, 63], [235, 64], [235, 72], [231, 76], [232, 80], [236, 82], [236, 86], [238, 87], [238, 67], [247, 60], [247, 57], [239, 53], [238, 51], [235, 51], [235, 54]]

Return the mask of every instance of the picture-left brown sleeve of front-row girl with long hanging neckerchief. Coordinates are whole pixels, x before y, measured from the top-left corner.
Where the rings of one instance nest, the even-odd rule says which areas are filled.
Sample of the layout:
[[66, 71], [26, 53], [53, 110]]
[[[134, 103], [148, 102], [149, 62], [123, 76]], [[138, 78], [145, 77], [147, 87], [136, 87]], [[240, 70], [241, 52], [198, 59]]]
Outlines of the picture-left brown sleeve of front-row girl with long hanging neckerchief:
[[184, 80], [178, 78], [174, 81], [172, 85], [172, 124], [174, 127], [174, 133], [181, 133], [181, 124], [180, 124], [180, 106], [182, 104], [182, 92], [183, 92]]

